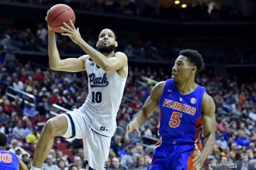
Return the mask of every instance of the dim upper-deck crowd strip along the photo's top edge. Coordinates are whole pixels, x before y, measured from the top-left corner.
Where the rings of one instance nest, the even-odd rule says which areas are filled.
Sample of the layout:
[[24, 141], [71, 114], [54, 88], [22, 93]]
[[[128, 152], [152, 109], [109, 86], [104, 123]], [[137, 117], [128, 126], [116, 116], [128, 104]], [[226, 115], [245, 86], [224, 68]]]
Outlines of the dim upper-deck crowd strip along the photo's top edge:
[[[10, 1], [10, 0], [6, 0]], [[152, 0], [11, 0], [36, 5], [53, 6], [68, 4], [74, 9], [95, 13], [111, 13], [114, 15], [135, 16], [166, 21], [255, 21], [254, 15], [245, 15], [238, 7], [210, 7], [204, 1], [188, 4], [181, 8], [174, 4], [164, 6]]]

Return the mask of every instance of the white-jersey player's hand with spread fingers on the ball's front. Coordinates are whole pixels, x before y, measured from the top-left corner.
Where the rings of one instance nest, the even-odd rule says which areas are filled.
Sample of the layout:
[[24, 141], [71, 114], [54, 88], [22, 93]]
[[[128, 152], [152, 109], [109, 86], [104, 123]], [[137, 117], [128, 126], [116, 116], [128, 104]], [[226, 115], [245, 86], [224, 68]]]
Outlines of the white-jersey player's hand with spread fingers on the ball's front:
[[82, 41], [82, 37], [79, 32], [79, 28], [75, 28], [74, 23], [70, 20], [70, 26], [67, 23], [63, 23], [64, 27], [60, 27], [61, 30], [64, 30], [65, 33], [61, 35], [68, 36], [73, 42], [79, 44]]

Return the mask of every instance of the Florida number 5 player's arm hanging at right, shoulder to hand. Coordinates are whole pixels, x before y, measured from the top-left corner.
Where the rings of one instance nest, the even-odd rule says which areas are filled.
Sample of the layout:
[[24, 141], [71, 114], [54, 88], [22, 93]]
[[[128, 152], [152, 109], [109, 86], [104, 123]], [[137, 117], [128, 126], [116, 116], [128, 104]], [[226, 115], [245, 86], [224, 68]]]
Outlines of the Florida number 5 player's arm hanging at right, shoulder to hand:
[[194, 165], [199, 169], [203, 166], [203, 162], [207, 159], [208, 155], [213, 151], [215, 143], [215, 103], [213, 98], [207, 93], [203, 95], [202, 111], [204, 132], [203, 149], [200, 154], [197, 152], [196, 158], [193, 159]]

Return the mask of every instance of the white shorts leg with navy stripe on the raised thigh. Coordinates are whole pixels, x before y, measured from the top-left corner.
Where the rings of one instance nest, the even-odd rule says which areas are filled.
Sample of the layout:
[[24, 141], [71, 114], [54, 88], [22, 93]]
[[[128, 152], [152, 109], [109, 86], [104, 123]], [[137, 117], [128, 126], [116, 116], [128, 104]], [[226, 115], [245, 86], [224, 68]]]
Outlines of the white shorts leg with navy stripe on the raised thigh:
[[85, 130], [85, 120], [82, 117], [82, 113], [79, 111], [70, 111], [68, 113], [63, 113], [63, 115], [67, 120], [67, 128], [63, 133], [63, 137], [76, 139], [82, 139], [87, 136], [87, 130]]

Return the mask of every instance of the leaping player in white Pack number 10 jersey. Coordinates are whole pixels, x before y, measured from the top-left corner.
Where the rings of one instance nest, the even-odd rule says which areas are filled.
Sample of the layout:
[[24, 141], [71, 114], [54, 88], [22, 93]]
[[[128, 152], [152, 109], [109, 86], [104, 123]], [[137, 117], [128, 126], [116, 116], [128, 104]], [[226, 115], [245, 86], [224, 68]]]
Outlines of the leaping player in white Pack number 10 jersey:
[[[72, 21], [70, 21], [72, 23]], [[60, 59], [55, 33], [48, 28], [48, 55], [50, 69], [63, 72], [87, 71], [88, 96], [85, 103], [73, 111], [47, 121], [36, 146], [32, 170], [41, 169], [55, 136], [75, 137], [83, 140], [86, 169], [106, 169], [111, 137], [116, 130], [116, 115], [128, 74], [127, 56], [114, 52], [116, 36], [110, 29], [100, 32], [97, 50], [81, 38], [79, 28], [65, 24], [62, 35], [68, 36], [87, 55]]]

